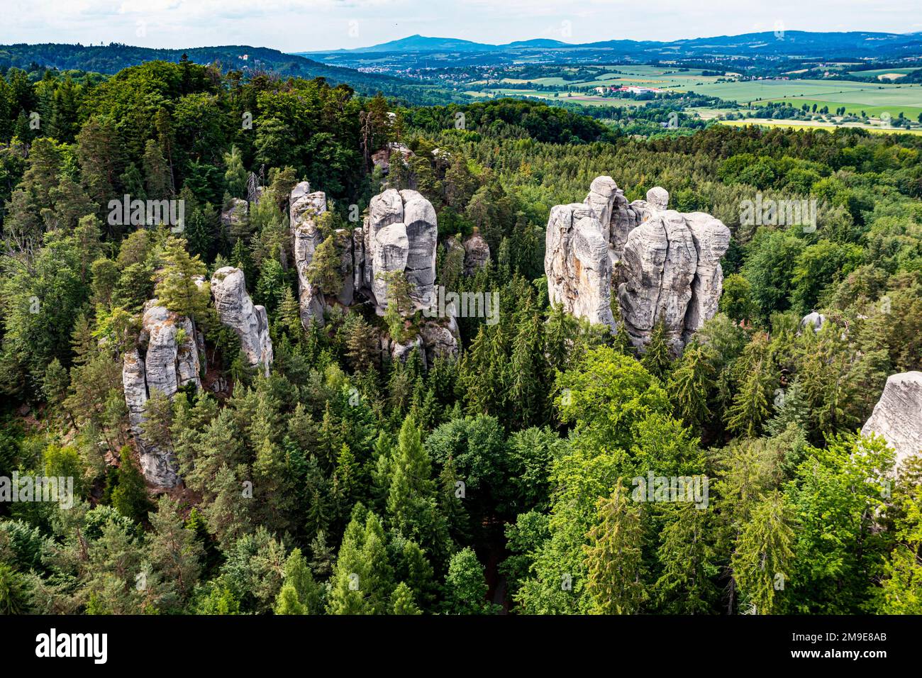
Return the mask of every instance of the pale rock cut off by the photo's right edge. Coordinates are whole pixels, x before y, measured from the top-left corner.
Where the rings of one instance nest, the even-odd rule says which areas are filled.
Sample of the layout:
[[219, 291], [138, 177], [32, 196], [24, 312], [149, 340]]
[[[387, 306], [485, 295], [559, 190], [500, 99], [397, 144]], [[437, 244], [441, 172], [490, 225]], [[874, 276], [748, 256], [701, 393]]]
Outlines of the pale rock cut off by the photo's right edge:
[[861, 434], [879, 434], [896, 452], [896, 465], [922, 451], [922, 372], [887, 377], [881, 399]]

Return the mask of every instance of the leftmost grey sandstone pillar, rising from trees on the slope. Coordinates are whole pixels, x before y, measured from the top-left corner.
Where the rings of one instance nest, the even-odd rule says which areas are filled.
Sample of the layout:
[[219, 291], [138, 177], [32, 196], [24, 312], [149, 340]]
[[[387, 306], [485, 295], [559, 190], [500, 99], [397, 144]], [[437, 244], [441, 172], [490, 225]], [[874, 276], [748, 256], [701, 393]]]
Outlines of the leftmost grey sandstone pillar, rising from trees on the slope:
[[141, 470], [149, 483], [159, 487], [175, 487], [179, 475], [172, 450], [144, 441], [144, 406], [155, 391], [172, 398], [181, 387], [189, 384], [201, 388], [199, 351], [200, 345], [188, 318], [168, 311], [156, 299], [145, 304], [137, 346], [124, 354], [122, 384]]

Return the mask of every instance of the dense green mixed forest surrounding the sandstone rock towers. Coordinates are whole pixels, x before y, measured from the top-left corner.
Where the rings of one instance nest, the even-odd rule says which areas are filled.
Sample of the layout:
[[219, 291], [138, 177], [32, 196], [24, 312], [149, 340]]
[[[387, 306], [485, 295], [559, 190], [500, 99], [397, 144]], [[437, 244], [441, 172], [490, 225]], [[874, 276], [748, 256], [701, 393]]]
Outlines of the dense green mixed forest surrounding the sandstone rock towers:
[[[384, 174], [388, 144], [411, 152]], [[857, 129], [642, 140], [534, 101], [414, 107], [189, 59], [8, 68], [0, 477], [72, 477], [76, 496], [0, 503], [0, 612], [922, 613], [922, 465], [892, 474], [857, 434], [887, 376], [922, 369], [920, 153]], [[548, 301], [550, 208], [600, 174], [730, 227], [720, 312], [681, 355]], [[459, 318], [457, 358], [425, 367], [383, 356], [406, 327], [361, 305], [305, 328], [304, 180], [331, 228], [419, 190], [438, 284], [497, 293], [499, 322]], [[816, 199], [819, 227], [740, 223], [757, 192]], [[185, 228], [113, 224], [123, 195], [183, 200]], [[491, 259], [467, 275], [445, 244], [474, 232]], [[229, 265], [266, 307], [267, 376], [188, 284]], [[229, 384], [148, 400], [143, 436], [183, 477], [161, 493], [122, 380], [154, 297]], [[707, 506], [632, 501], [648, 473], [709, 479]]]

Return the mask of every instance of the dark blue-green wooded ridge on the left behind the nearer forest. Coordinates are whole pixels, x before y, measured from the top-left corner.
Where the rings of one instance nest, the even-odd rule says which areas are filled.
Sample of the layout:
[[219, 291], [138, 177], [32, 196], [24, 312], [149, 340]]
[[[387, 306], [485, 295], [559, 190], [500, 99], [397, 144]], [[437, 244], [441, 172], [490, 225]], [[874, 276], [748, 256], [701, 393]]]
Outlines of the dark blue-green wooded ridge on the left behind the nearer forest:
[[190, 47], [182, 50], [134, 47], [118, 42], [82, 45], [46, 42], [0, 45], [0, 68], [16, 66], [29, 70], [39, 65], [59, 70], [83, 70], [112, 75], [130, 65], [148, 61], [179, 61], [183, 54], [196, 64], [218, 64], [222, 70], [267, 73], [281, 77], [325, 77], [331, 85], [346, 83], [360, 94], [396, 97], [410, 103], [467, 101], [466, 97], [425, 83], [380, 73], [360, 73], [339, 65], [321, 64], [298, 54], [285, 54], [267, 47], [224, 45]]

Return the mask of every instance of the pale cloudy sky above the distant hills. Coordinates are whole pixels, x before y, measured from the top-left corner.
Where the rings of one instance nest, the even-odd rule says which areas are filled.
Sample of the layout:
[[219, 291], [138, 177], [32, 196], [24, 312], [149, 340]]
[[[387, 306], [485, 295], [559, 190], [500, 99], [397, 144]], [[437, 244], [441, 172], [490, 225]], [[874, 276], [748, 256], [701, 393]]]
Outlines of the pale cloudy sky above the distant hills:
[[250, 44], [286, 52], [421, 35], [678, 40], [755, 30], [922, 30], [918, 0], [0, 0], [0, 43]]

